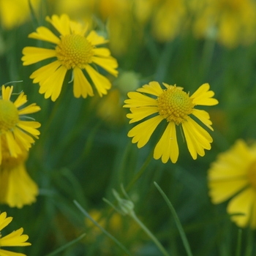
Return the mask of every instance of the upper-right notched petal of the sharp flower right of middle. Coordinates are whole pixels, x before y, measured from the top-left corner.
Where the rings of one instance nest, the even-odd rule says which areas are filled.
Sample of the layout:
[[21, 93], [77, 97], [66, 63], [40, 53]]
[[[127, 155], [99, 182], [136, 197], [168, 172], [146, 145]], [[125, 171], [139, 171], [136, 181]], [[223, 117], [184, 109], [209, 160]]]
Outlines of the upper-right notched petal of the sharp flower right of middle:
[[209, 91], [210, 86], [208, 83], [203, 83], [202, 86], [200, 86], [197, 91], [192, 94], [190, 97], [193, 99], [193, 103], [195, 105], [206, 105], [206, 106], [212, 106], [217, 105], [219, 102], [217, 99], [213, 99], [214, 97], [214, 91]]

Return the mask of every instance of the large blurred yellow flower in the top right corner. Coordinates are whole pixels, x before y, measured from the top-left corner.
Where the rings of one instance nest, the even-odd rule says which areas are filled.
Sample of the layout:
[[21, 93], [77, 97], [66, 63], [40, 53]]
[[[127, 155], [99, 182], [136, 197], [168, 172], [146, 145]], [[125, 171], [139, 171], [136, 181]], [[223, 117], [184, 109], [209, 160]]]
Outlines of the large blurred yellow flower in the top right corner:
[[217, 39], [233, 48], [255, 42], [256, 3], [254, 0], [193, 0], [193, 31], [197, 37]]

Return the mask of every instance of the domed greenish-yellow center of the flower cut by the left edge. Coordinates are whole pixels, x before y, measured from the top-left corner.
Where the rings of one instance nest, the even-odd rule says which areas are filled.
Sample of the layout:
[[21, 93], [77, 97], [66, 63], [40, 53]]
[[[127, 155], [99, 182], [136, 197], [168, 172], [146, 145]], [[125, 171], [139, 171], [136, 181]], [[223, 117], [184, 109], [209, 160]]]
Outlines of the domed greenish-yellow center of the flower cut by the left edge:
[[0, 99], [0, 135], [13, 129], [19, 121], [18, 109], [10, 100]]

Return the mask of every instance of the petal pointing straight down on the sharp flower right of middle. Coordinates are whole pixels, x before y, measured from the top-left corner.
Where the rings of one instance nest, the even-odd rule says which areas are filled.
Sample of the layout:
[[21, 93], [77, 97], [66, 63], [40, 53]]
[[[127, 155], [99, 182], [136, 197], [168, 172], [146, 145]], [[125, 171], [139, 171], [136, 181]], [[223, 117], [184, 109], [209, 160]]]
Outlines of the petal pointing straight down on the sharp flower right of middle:
[[166, 163], [169, 159], [176, 163], [178, 159], [178, 143], [176, 136], [176, 124], [169, 122], [165, 132], [154, 148], [154, 159], [162, 157], [162, 162]]

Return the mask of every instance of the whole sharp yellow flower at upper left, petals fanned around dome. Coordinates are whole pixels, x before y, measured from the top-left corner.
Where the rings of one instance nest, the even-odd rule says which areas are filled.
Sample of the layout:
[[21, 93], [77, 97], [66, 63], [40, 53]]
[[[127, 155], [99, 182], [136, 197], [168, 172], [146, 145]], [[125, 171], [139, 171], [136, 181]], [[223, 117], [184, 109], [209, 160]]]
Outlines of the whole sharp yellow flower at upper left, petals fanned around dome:
[[116, 70], [118, 64], [116, 59], [110, 56], [110, 50], [97, 48], [98, 45], [108, 41], [97, 35], [96, 31], [91, 31], [85, 36], [87, 27], [83, 28], [80, 23], [69, 20], [67, 15], [60, 17], [53, 15], [52, 18], [47, 17], [46, 20], [60, 35], [56, 36], [50, 29], [40, 26], [36, 32], [29, 34], [29, 37], [50, 42], [55, 45], [54, 49], [26, 47], [23, 49], [24, 56], [22, 57], [23, 65], [54, 59], [53, 62], [37, 69], [30, 76], [33, 83], [39, 83], [39, 93], [45, 94], [45, 99], [51, 97], [55, 101], [61, 93], [67, 71], [72, 69], [74, 96], [77, 98], [94, 96], [91, 83], [82, 71], [84, 69], [94, 83], [99, 96], [107, 94], [111, 83], [93, 66], [97, 65], [114, 76], [118, 75]]

